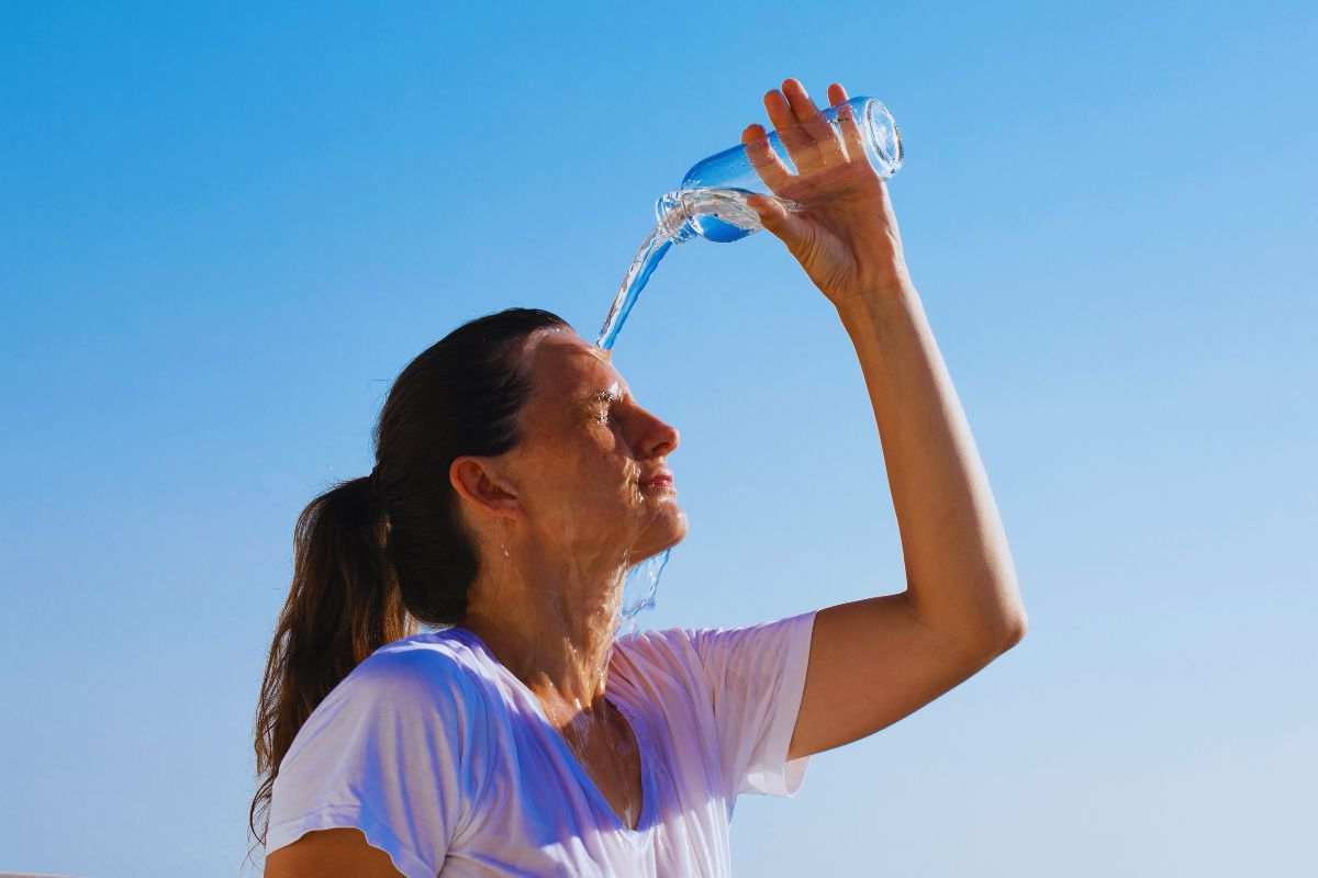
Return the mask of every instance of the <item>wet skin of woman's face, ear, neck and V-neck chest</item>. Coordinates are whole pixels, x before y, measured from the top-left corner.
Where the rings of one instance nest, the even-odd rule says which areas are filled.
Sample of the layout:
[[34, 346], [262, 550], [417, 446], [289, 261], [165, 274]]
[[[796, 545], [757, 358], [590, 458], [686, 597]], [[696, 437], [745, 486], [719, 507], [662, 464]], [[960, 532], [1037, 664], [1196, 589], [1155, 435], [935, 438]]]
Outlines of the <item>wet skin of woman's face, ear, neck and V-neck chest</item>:
[[453, 461], [482, 558], [465, 628], [539, 699], [622, 823], [641, 813], [635, 737], [605, 696], [627, 569], [687, 534], [676, 490], [642, 486], [677, 448], [610, 362], [575, 332], [536, 333], [523, 442]]

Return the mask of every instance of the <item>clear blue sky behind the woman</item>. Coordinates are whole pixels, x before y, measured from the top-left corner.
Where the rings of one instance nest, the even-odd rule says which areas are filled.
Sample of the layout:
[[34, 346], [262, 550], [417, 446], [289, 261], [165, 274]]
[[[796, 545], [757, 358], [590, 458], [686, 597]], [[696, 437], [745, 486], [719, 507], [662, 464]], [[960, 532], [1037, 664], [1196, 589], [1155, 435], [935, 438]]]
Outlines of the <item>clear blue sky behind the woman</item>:
[[[655, 196], [784, 76], [902, 126], [1031, 631], [741, 799], [738, 874], [1313, 869], [1313, 4], [484, 9], [0, 12], [0, 871], [243, 871], [298, 512], [460, 323], [593, 341]], [[683, 437], [647, 625], [904, 587], [855, 354], [778, 241], [675, 247], [616, 362]]]

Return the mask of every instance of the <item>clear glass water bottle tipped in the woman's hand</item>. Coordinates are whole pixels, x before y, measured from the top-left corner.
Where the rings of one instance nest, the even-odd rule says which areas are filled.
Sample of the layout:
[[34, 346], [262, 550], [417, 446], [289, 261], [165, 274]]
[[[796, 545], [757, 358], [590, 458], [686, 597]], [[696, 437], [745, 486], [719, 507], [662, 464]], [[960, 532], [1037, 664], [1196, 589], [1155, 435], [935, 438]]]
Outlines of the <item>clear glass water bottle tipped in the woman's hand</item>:
[[[865, 155], [879, 176], [888, 178], [902, 167], [902, 134], [898, 124], [874, 97], [846, 101], [865, 140]], [[837, 126], [837, 107], [824, 111], [824, 117]], [[796, 166], [783, 147], [778, 132], [768, 134], [770, 146], [789, 171]], [[759, 217], [745, 200], [750, 194], [772, 195], [746, 157], [746, 147], [737, 145], [695, 165], [681, 186], [655, 203], [659, 225], [677, 244], [693, 237], [706, 241], [739, 241], [757, 232]]]

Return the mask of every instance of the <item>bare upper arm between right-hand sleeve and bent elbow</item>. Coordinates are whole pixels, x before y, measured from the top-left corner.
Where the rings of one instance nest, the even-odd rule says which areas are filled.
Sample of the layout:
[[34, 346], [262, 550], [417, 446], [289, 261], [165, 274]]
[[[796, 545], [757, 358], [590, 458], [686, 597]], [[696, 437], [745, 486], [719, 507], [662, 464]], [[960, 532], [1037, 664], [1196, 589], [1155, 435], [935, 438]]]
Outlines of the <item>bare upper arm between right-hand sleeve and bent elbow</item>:
[[905, 594], [818, 611], [788, 757], [812, 756], [896, 723], [1008, 645], [967, 646], [923, 623]]

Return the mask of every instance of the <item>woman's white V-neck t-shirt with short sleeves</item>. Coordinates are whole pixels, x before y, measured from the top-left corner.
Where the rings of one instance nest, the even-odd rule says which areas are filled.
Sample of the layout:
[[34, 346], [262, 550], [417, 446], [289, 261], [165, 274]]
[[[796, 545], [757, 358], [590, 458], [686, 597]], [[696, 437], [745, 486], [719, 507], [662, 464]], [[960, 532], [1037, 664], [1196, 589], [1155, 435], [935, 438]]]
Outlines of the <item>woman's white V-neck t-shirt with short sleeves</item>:
[[641, 754], [637, 828], [531, 691], [464, 628], [376, 650], [307, 719], [274, 782], [268, 850], [356, 827], [407, 878], [729, 875], [741, 792], [789, 796], [815, 613], [622, 636], [606, 698]]

